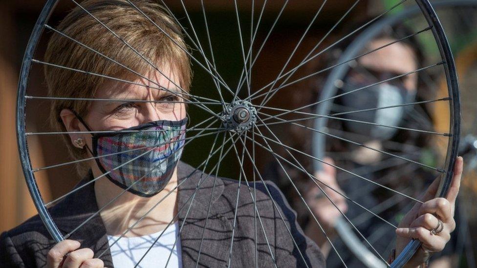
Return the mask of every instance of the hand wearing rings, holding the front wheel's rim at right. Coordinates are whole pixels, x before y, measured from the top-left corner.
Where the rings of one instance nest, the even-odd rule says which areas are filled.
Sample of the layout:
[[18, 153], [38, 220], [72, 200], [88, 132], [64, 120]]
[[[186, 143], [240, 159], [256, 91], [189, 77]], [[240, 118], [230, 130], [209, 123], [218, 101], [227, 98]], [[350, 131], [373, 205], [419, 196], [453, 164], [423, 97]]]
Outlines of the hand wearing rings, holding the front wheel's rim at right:
[[[412, 207], [396, 229], [396, 256], [412, 238], [422, 242], [422, 246], [406, 267], [416, 267], [425, 263], [434, 252], [444, 249], [451, 239], [450, 234], [455, 229], [455, 199], [459, 192], [462, 165], [462, 157], [457, 157], [454, 177], [446, 198], [434, 198], [440, 181], [439, 178], [435, 179], [422, 199], [425, 203], [417, 203]], [[442, 221], [442, 227], [439, 221]]]

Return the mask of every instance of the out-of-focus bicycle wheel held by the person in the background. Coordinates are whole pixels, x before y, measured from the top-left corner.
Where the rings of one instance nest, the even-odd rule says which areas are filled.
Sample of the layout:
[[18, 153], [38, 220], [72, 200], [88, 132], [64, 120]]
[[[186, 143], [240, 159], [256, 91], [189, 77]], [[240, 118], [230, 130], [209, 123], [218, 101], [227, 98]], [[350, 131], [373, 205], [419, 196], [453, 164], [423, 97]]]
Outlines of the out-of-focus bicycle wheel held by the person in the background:
[[[449, 28], [451, 30], [451, 36], [449, 38], [450, 44], [452, 47], [454, 47], [455, 51], [458, 51], [460, 47], [465, 46], [465, 43], [467, 41], [463, 41], [462, 34], [467, 34], [472, 32], [472, 28], [474, 27], [474, 22], [473, 19], [475, 17], [475, 11], [476, 11], [476, 2], [475, 1], [459, 1], [459, 0], [444, 0], [444, 1], [436, 1], [433, 3], [434, 7], [436, 8], [437, 14], [439, 15], [439, 18], [441, 20], [444, 20], [447, 22], [447, 25], [449, 25]], [[409, 8], [407, 10], [403, 10], [402, 12], [399, 12], [395, 14], [394, 16], [388, 17], [386, 20], [379, 21], [378, 23], [375, 23], [372, 27], [369, 27], [365, 32], [360, 34], [349, 46], [347, 46], [343, 53], [341, 54], [341, 58], [338, 60], [338, 62], [347, 62], [350, 61], [350, 59], [360, 55], [362, 47], [366, 46], [369, 44], [371, 41], [374, 39], [379, 39], [383, 38], [383, 36], [389, 36], [389, 37], [394, 37], [394, 38], [399, 38], [399, 33], [396, 33], [396, 30], [393, 30], [397, 28], [403, 28], [401, 25], [408, 25], [406, 27], [409, 28], [409, 30], [415, 28], [412, 27], [410, 24], [418, 24], [419, 19], [416, 19], [419, 17], [420, 11], [418, 8]], [[465, 16], [462, 16], [464, 15]], [[412, 23], [410, 23], [412, 21]], [[453, 28], [453, 25], [459, 25], [458, 28]], [[392, 31], [392, 33], [387, 34], [387, 32]], [[402, 37], [402, 33], [401, 33]], [[449, 35], [448, 35], [449, 37]], [[472, 42], [472, 34], [468, 37], [468, 41]], [[421, 44], [425, 43], [425, 40], [416, 40], [420, 41]], [[422, 44], [425, 46], [425, 44]], [[392, 53], [392, 52], [391, 52]], [[426, 52], [428, 55], [426, 57], [436, 57], [435, 55], [433, 56], [433, 52]], [[435, 54], [435, 52], [434, 52]], [[351, 62], [353, 64], [343, 64], [341, 66], [338, 66], [335, 68], [331, 74], [326, 78], [326, 81], [324, 82], [325, 86], [322, 90], [322, 99], [330, 98], [334, 95], [340, 94], [340, 87], [343, 84], [343, 81], [345, 81], [345, 77], [349, 72], [352, 72], [354, 69], [359, 69], [360, 66], [356, 66], [355, 62]], [[439, 75], [432, 74], [432, 73], [422, 73], [423, 77], [421, 78], [421, 87], [425, 87], [428, 89], [431, 88], [439, 88], [440, 87], [440, 77]], [[338, 85], [338, 86], [337, 86]], [[441, 93], [434, 93], [437, 94], [438, 97], [446, 97], [448, 92], [447, 92], [447, 86], [445, 83], [442, 83], [442, 88], [440, 88]], [[417, 92], [418, 94], [421, 92]], [[424, 95], [426, 93], [424, 92]], [[427, 103], [431, 101], [429, 97], [420, 97], [420, 100], [423, 100], [424, 103]], [[466, 100], [469, 103], [472, 103], [472, 98], [466, 98]], [[446, 104], [442, 103], [435, 103], [433, 104], [432, 107], [431, 104], [426, 104], [428, 107], [418, 107], [419, 103], [411, 103], [411, 107], [407, 108], [406, 113], [407, 113], [407, 118], [403, 119], [403, 121], [408, 121], [408, 122], [403, 122], [401, 124], [406, 124], [409, 123], [409, 120], [411, 118], [422, 118], [423, 120], [421, 121], [422, 124], [426, 125], [433, 125], [432, 127], [436, 131], [440, 130], [445, 130], [448, 127], [448, 115], [447, 115], [447, 107]], [[470, 107], [470, 106], [469, 106]], [[330, 113], [339, 113], [343, 112], [347, 107], [340, 107], [338, 103], [322, 103], [320, 104], [319, 107], [316, 108], [316, 113], [317, 114], [330, 114]], [[427, 116], [426, 110], [431, 109], [433, 110], [434, 115], [432, 117]], [[464, 109], [465, 110], [465, 109]], [[471, 110], [469, 110], [471, 111]], [[346, 111], [345, 111], [346, 112]], [[445, 114], [445, 115], [444, 115]], [[441, 120], [442, 116], [444, 116], [446, 119]], [[328, 124], [326, 120], [316, 120], [315, 122], [315, 128], [320, 129], [321, 127], [325, 127]], [[335, 129], [337, 126], [333, 125], [330, 123], [329, 125], [331, 129], [329, 130], [330, 132], [332, 131], [339, 131], [338, 129]], [[359, 137], [356, 135], [358, 133], [347, 133], [348, 137], [354, 137], [356, 139], [359, 139]], [[402, 133], [401, 133], [402, 134]], [[330, 146], [326, 146], [327, 142], [329, 141], [329, 138], [327, 138], [324, 135], [321, 135], [319, 133], [314, 133], [313, 135], [314, 138], [314, 156], [318, 158], [322, 158], [323, 156], [330, 154], [330, 155], [336, 155], [339, 153], [339, 150], [336, 151], [336, 148], [330, 148]], [[412, 151], [412, 147], [410, 146], [410, 143], [418, 141], [418, 139], [422, 139], [422, 137], [415, 137], [413, 139], [408, 139], [406, 140], [407, 144], [404, 144], [402, 141], [400, 143], [396, 143], [396, 138], [394, 139], [392, 137], [379, 137], [381, 139], [380, 143], [382, 143], [385, 147], [390, 146], [391, 148], [393, 144], [396, 146], [396, 148], [393, 148], [393, 150], [396, 153], [399, 154], [409, 154]], [[364, 138], [366, 140], [366, 138]], [[415, 149], [417, 147], [414, 147], [414, 150], [416, 153], [420, 154], [422, 152], [425, 152], [426, 146], [429, 146], [429, 144], [426, 145], [419, 145], [419, 149]], [[435, 153], [440, 154], [444, 153], [446, 151], [446, 144], [442, 144], [442, 151], [435, 151]], [[406, 148], [408, 147], [408, 148]], [[409, 149], [409, 150], [407, 150]], [[418, 152], [419, 151], [419, 152]], [[429, 150], [427, 150], [429, 151]], [[422, 154], [420, 155], [415, 155], [416, 159], [423, 159], [423, 157], [429, 157], [428, 156], [423, 156]], [[347, 159], [350, 162], [353, 162], [353, 160]], [[354, 165], [359, 165], [358, 163], [354, 163]], [[373, 174], [373, 176], [385, 176], [385, 177], [399, 177], [399, 176], [406, 176], [405, 174], [412, 174], [412, 176], [417, 176], [417, 174], [422, 174], [422, 170], [420, 169], [410, 169], [410, 171], [406, 171], [405, 174], [403, 174], [403, 170], [408, 170], [408, 166], [410, 164], [406, 164], [404, 162], [392, 162], [392, 159], [381, 159], [377, 163], [373, 163], [372, 167], [366, 167], [362, 166], [361, 167], [355, 167], [353, 170], [355, 173], [360, 174], [360, 172], [363, 172], [363, 169], [367, 170], [370, 174]], [[319, 166], [315, 166], [315, 168], [319, 168]], [[394, 169], [394, 170], [393, 170]], [[342, 182], [342, 184], [346, 184], [346, 182]], [[372, 188], [366, 188], [362, 187], [359, 189], [350, 189], [350, 194], [353, 194], [353, 191], [356, 190], [356, 193], [360, 193], [360, 191], [364, 190], [367, 191], [367, 194], [370, 194], [370, 192], [373, 191]], [[369, 191], [369, 192], [368, 192]], [[396, 214], [399, 214], [399, 211], [396, 210], [396, 205], [399, 203], [398, 200], [396, 200], [393, 197], [388, 198], [386, 201], [383, 203], [386, 204], [385, 207], [381, 206], [375, 206], [375, 209], [378, 209], [383, 215], [386, 213], [387, 215], [387, 220], [392, 221], [394, 217], [396, 217]], [[393, 213], [391, 213], [393, 211]], [[356, 215], [355, 215], [356, 216]], [[352, 216], [350, 216], [352, 217]], [[459, 219], [465, 219], [466, 217], [464, 215], [459, 214]], [[355, 224], [362, 225], [361, 228], [366, 228], [369, 227], [371, 224], [378, 225], [380, 227], [377, 227], [377, 230], [375, 231], [376, 233], [382, 233], [386, 232], [385, 230], [387, 229], [386, 224], [384, 223], [372, 223], [369, 219], [366, 220], [363, 217], [355, 217], [357, 222], [354, 222]], [[467, 224], [465, 221], [463, 223], [459, 223], [459, 226], [462, 228], [466, 228]], [[338, 234], [340, 235], [340, 239], [342, 240], [341, 243], [346, 245], [347, 247], [350, 248], [350, 251], [353, 252], [354, 255], [356, 255], [357, 258], [360, 259], [360, 261], [364, 264], [366, 264], [368, 267], [376, 267], [377, 265], [382, 265], [380, 263], [380, 260], [375, 258], [372, 252], [367, 249], [367, 245], [360, 241], [359, 238], [355, 235], [353, 228], [347, 224], [347, 222], [342, 218], [336, 223], [336, 230]], [[461, 236], [462, 234], [459, 234]], [[464, 234], [465, 236], [465, 234]], [[373, 238], [375, 239], [375, 235], [373, 233], [369, 233], [369, 236], [367, 238], [370, 238], [371, 241], [374, 241]], [[462, 243], [465, 243], [464, 241], [459, 241], [457, 245], [455, 245], [455, 248], [462, 248], [461, 245]], [[472, 251], [472, 248], [469, 248], [469, 251]]]

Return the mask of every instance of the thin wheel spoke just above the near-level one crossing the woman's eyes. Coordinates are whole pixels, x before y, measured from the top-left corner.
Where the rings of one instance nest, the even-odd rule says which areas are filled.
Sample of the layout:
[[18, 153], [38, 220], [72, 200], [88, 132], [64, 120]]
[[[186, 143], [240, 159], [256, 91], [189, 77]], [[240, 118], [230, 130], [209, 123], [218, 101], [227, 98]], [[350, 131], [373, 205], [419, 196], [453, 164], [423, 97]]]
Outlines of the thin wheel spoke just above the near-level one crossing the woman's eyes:
[[[138, 85], [138, 86], [142, 86], [142, 87], [145, 87], [145, 88], [151, 88], [151, 89], [157, 89], [157, 90], [164, 90], [164, 91], [167, 91], [167, 92], [170, 92], [174, 95], [176, 95], [177, 97], [181, 98], [181, 99], [185, 99], [184, 97], [182, 97], [181, 95], [186, 95], [186, 96], [189, 96], [193, 99], [204, 99], [204, 100], [207, 100], [207, 101], [213, 101], [213, 102], [217, 102], [217, 100], [212, 100], [212, 99], [208, 99], [208, 98], [203, 98], [203, 97], [198, 97], [198, 96], [194, 96], [194, 95], [191, 95], [187, 92], [185, 93], [177, 93], [177, 92], [174, 92], [172, 90], [169, 90], [168, 88], [165, 88], [165, 87], [154, 87], [154, 86], [149, 86], [149, 85], [146, 85], [146, 84], [142, 84], [142, 83], [137, 83], [137, 82], [131, 82], [131, 81], [128, 81], [128, 80], [124, 80], [124, 79], [119, 79], [119, 78], [114, 78], [114, 77], [110, 77], [110, 76], [106, 76], [106, 75], [102, 75], [102, 74], [98, 74], [98, 73], [92, 73], [92, 72], [88, 72], [88, 71], [83, 71], [83, 70], [79, 70], [79, 69], [75, 69], [75, 68], [70, 68], [70, 67], [66, 67], [66, 66], [62, 66], [62, 65], [58, 65], [58, 64], [53, 64], [53, 63], [49, 63], [49, 62], [42, 62], [42, 61], [38, 61], [38, 60], [31, 60], [32, 62], [34, 63], [39, 63], [39, 64], [43, 64], [43, 65], [48, 65], [48, 66], [53, 66], [53, 67], [57, 67], [57, 68], [61, 68], [61, 69], [65, 69], [65, 70], [70, 70], [70, 71], [74, 71], [74, 72], [79, 72], [79, 73], [84, 73], [84, 74], [87, 74], [87, 75], [93, 75], [93, 76], [98, 76], [98, 77], [102, 77], [102, 78], [107, 78], [107, 79], [110, 79], [110, 80], [114, 80], [114, 81], [118, 81], [118, 82], [124, 82], [124, 83], [129, 83], [129, 84], [133, 84], [133, 85]], [[182, 89], [183, 90], [183, 89]], [[187, 99], [186, 99], [187, 100]], [[219, 115], [217, 115], [215, 112], [213, 112], [211, 109], [209, 109], [207, 106], [205, 105], [201, 105], [201, 103], [199, 101], [197, 101], [196, 103], [193, 103], [195, 105], [197, 105], [197, 107], [211, 113], [212, 115], [220, 118]]]

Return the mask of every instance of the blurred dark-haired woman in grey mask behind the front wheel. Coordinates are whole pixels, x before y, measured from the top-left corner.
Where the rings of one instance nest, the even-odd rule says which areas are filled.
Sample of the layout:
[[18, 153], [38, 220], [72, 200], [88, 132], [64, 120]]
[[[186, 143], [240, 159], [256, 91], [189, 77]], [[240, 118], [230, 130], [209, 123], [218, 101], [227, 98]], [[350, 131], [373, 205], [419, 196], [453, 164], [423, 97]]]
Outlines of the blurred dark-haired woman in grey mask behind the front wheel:
[[[344, 33], [351, 32], [355, 25], [363, 25], [371, 19], [372, 17], [351, 23], [353, 26], [351, 26], [350, 29], [345, 29]], [[419, 49], [419, 43], [414, 38], [409, 38], [409, 36], [412, 36], [412, 33], [412, 30], [408, 27], [396, 25], [384, 30], [376, 38], [369, 41], [357, 55], [365, 54], [369, 51], [376, 51], [359, 57], [355, 62], [352, 62], [348, 67], [349, 70], [347, 75], [344, 76], [343, 81], [335, 83], [338, 90], [337, 95], [361, 87], [368, 88], [350, 92], [344, 94], [342, 97], [336, 98], [336, 100], [334, 100], [335, 105], [332, 106], [333, 109], [336, 110], [332, 112], [351, 110], [366, 111], [370, 109], [370, 111], [367, 112], [349, 113], [344, 117], [351, 121], [358, 120], [375, 124], [394, 125], [408, 129], [422, 129], [425, 127], [422, 125], [422, 122], [417, 123], [417, 121], [412, 120], [412, 117], [417, 117], [416, 113], [418, 112], [415, 112], [415, 110], [422, 111], [422, 114], [429, 115], [429, 107], [426, 106], [428, 104], [374, 110], [376, 107], [399, 106], [405, 103], [433, 99], [432, 89], [427, 87], [426, 84], [421, 81], [422, 77], [418, 75], [421, 73], [414, 73], [414, 70], [423, 67], [422, 62], [424, 62], [424, 56], [421, 53], [422, 50]], [[403, 40], [396, 42], [398, 39]], [[352, 41], [353, 40], [350, 39], [340, 43], [339, 48], [335, 48], [333, 52], [325, 56], [326, 62], [320, 64], [323, 66], [311, 66], [312, 68], [314, 67], [314, 69], [310, 72], [316, 72], [316, 70], [342, 61], [341, 58], [338, 58], [341, 56], [341, 52], [345, 51]], [[392, 42], [395, 43], [388, 45]], [[408, 73], [409, 75], [406, 75]], [[395, 76], [401, 77], [399, 79], [390, 79]], [[323, 78], [326, 78], [326, 76], [323, 76]], [[309, 88], [307, 92], [309, 92], [308, 94], [311, 96], [306, 96], [306, 94], [297, 96], [296, 99], [301, 103], [295, 103], [295, 106], [305, 106], [318, 100], [319, 89], [317, 89], [316, 85], [324, 84], [325, 81], [321, 80], [323, 78], [310, 81], [309, 83], [312, 88]], [[387, 79], [390, 80], [388, 82], [381, 82]], [[369, 86], [372, 84], [375, 85]], [[314, 106], [309, 107], [309, 111], [305, 112], [314, 113], [314, 109]], [[351, 139], [354, 142], [362, 143], [377, 150], [384, 150], [397, 155], [403, 154], [403, 147], [406, 146], [430, 151], [434, 145], [430, 141], [429, 135], [425, 133], [369, 124], [364, 125], [351, 121], [329, 119], [328, 128], [334, 130], [329, 131], [329, 133]], [[311, 128], [314, 127], [312, 125], [313, 120], [301, 124]], [[303, 126], [290, 125], [289, 133], [290, 136], [292, 136], [290, 140], [296, 141], [296, 144], [292, 145], [294, 148], [300, 148], [302, 151], [311, 154], [311, 135], [314, 134], [312, 131], [309, 131], [309, 129]], [[309, 137], [309, 139], [305, 139], [306, 142], [303, 142], [303, 137]], [[391, 143], [399, 145], [388, 147]], [[405, 192], [410, 196], [419, 196], [419, 191], [432, 183], [434, 175], [426, 168], [413, 169], [415, 171], [409, 174], [410, 172], [405, 172], [405, 170], [409, 168], [408, 166], [412, 168], [414, 165], [407, 163], [407, 165], [395, 165], [378, 169], [376, 167], [380, 167], [380, 165], [385, 166], [386, 161], [392, 161], [392, 157], [389, 158], [379, 151], [351, 144], [336, 137], [326, 137], [325, 152], [332, 153], [340, 158], [333, 161], [333, 159], [326, 157], [324, 161], [331, 165], [322, 165], [322, 170], [314, 174], [316, 178], [330, 186], [323, 187], [328, 196], [325, 196], [321, 189], [316, 187], [314, 182], [311, 182], [309, 177], [303, 172], [297, 172], [295, 168], [291, 166], [288, 167], [286, 171], [293, 176], [292, 180], [297, 187], [303, 189], [302, 194], [307, 201], [307, 205], [313, 210], [314, 216], [325, 228], [328, 237], [325, 237], [315, 221], [308, 217], [309, 213], [299, 213], [298, 222], [304, 228], [305, 234], [321, 248], [326, 257], [327, 267], [342, 267], [342, 259], [349, 267], [361, 266], [362, 263], [350, 252], [347, 245], [345, 245], [341, 239], [334, 239], [336, 238], [336, 231], [334, 229], [336, 222], [340, 219], [346, 222], [342, 217], [342, 213], [346, 213], [348, 219], [353, 220], [353, 224], [355, 224], [365, 237], [374, 237], [371, 244], [382, 255], [386, 254], [386, 251], [391, 251], [393, 248], [392, 245], [390, 245], [390, 241], [394, 240], [395, 233], [393, 232], [393, 228], [388, 224], [377, 217], [367, 214], [363, 208], [355, 206], [351, 204], [351, 202], [347, 202], [347, 199], [335, 190], [345, 193], [348, 198], [367, 208], [378, 207], [385, 202], [389, 204], [391, 199], [396, 200], [396, 196], [394, 193], [383, 191], [381, 187], [369, 184], [369, 182], [360, 180], [347, 172], [336, 170], [332, 165], [337, 165], [347, 171], [354, 172], [355, 174], [379, 183], [381, 183], [381, 181], [379, 181], [380, 178], [388, 177], [392, 180], [387, 180], [385, 186]], [[309, 157], [300, 158], [302, 165], [306, 166], [308, 170], [313, 173], [311, 171], [310, 160]], [[267, 178], [277, 182], [277, 185], [284, 191], [291, 206], [297, 211], [306, 211], [307, 208], [300, 200], [294, 188], [291, 187], [288, 178], [281, 172], [282, 169], [280, 165], [273, 162], [269, 165], [267, 171], [269, 174]], [[334, 204], [329, 201], [328, 197]], [[396, 226], [404, 214], [408, 212], [408, 207], [410, 207], [408, 202], [400, 202], [399, 199], [397, 200], [393, 206], [390, 206], [388, 209], [382, 211], [381, 214], [378, 214]], [[300, 217], [300, 214], [303, 216]], [[430, 216], [428, 215], [427, 217]], [[402, 224], [401, 222], [401, 225]], [[377, 238], [377, 236], [373, 235], [374, 233], [381, 233], [381, 235]], [[335, 249], [328, 243], [328, 238], [332, 239]], [[454, 254], [452, 249], [453, 245], [452, 243], [449, 244], [451, 244], [449, 245], [450, 247], [446, 247], [446, 250], [434, 256], [432, 264], [435, 265], [435, 267], [453, 267], [451, 262], [451, 257]], [[335, 250], [340, 256], [336, 254]]]

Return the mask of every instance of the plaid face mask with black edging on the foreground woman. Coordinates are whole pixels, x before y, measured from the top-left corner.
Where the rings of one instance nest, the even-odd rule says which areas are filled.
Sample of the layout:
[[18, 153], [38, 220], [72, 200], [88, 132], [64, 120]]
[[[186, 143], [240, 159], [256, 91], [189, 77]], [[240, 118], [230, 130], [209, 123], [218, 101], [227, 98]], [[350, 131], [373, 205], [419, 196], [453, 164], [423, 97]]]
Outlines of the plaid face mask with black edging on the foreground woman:
[[151, 197], [171, 180], [184, 147], [186, 124], [187, 118], [154, 121], [120, 133], [94, 134], [92, 154], [109, 181], [133, 194]]

